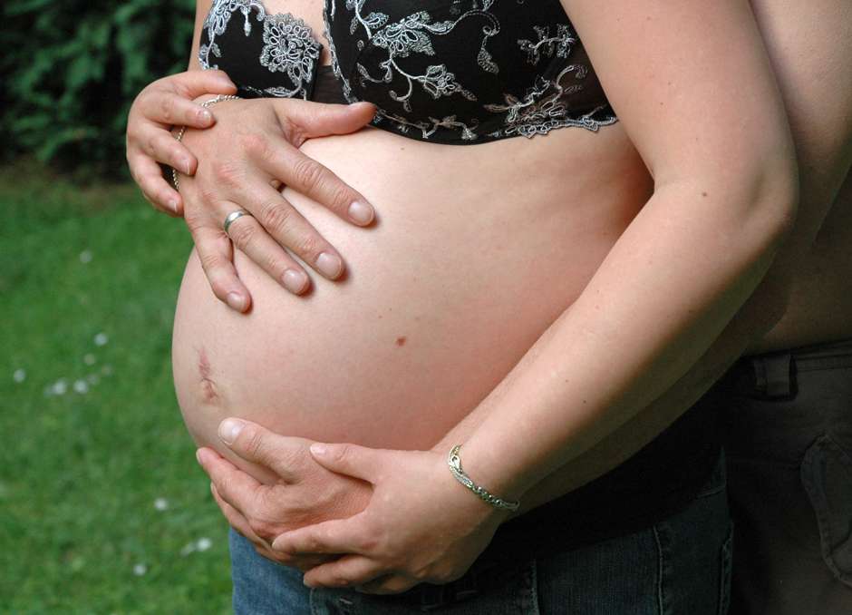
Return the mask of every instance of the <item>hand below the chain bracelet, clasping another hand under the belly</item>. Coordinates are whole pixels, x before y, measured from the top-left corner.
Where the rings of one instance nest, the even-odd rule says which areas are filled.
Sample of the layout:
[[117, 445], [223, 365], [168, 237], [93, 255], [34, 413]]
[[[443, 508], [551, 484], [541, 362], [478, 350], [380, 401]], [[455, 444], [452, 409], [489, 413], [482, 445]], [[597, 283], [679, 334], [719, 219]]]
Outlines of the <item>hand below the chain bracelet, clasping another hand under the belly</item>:
[[399, 593], [460, 578], [508, 518], [450, 473], [443, 454], [354, 444], [313, 444], [317, 463], [373, 484], [363, 512], [286, 532], [272, 543], [289, 556], [341, 554], [305, 574], [309, 587]]

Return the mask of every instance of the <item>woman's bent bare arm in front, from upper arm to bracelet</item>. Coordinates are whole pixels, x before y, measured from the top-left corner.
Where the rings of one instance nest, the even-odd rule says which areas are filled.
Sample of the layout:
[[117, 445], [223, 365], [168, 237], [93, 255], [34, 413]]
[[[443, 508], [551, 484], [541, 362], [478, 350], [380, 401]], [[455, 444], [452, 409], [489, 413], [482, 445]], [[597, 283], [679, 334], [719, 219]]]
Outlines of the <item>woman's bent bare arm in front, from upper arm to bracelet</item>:
[[462, 457], [509, 498], [688, 371], [757, 286], [795, 211], [789, 128], [747, 4], [564, 4], [654, 195], [483, 402]]

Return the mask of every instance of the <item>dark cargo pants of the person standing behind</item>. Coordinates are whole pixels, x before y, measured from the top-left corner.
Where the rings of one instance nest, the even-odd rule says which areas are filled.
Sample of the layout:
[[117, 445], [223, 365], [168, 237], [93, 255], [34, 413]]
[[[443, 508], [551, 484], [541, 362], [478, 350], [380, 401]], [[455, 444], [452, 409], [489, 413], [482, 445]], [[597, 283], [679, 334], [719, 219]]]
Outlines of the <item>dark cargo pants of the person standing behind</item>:
[[732, 615], [852, 614], [852, 340], [726, 377]]

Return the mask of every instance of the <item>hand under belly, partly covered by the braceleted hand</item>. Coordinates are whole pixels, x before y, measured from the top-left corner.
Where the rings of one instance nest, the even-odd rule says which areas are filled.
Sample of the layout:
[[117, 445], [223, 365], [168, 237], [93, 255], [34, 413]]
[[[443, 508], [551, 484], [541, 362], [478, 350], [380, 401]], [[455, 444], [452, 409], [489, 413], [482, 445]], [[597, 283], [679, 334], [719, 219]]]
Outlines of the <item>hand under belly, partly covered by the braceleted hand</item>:
[[272, 479], [260, 483], [213, 449], [198, 449], [198, 463], [208, 473], [210, 490], [231, 527], [262, 556], [288, 566], [308, 570], [334, 559], [274, 552], [269, 543], [283, 532], [363, 511], [371, 486], [317, 464], [308, 450], [311, 441], [304, 438], [274, 434], [237, 419], [223, 421], [219, 434], [234, 454], [263, 466]]

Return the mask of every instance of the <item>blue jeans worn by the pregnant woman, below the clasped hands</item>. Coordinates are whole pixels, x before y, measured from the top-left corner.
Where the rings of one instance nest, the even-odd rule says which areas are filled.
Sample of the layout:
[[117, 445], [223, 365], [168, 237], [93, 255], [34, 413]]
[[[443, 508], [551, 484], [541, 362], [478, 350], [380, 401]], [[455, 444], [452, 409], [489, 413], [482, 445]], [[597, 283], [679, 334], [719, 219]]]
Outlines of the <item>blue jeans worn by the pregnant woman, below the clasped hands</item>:
[[302, 574], [230, 535], [237, 615], [723, 615], [731, 588], [731, 520], [720, 460], [679, 512], [639, 532], [545, 557], [477, 561], [459, 581], [397, 596], [310, 590]]

